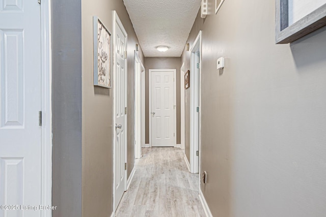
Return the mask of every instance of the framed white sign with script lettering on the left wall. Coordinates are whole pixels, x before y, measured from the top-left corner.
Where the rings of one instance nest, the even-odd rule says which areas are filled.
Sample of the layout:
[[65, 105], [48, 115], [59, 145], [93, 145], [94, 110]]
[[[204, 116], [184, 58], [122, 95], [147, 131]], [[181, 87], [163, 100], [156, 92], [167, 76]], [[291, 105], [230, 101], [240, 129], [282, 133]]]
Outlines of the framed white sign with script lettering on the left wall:
[[111, 88], [111, 33], [97, 16], [93, 17], [93, 32], [94, 85]]

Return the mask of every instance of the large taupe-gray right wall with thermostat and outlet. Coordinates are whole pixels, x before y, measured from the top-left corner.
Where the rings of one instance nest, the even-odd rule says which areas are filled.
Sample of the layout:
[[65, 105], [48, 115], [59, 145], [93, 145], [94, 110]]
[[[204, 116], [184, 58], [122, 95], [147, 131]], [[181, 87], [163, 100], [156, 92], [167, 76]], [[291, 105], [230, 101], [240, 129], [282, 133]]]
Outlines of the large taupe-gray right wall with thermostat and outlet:
[[203, 30], [201, 190], [213, 216], [324, 216], [326, 27], [276, 45], [274, 1], [210, 12], [188, 42]]

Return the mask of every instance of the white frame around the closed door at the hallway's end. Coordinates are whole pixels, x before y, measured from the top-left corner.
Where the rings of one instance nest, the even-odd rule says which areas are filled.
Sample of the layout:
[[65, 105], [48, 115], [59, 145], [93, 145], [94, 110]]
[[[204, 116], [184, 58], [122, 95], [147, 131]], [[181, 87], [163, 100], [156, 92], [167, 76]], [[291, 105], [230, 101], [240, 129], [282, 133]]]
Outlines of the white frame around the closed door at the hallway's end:
[[177, 108], [176, 108], [176, 105], [177, 105], [177, 70], [176, 69], [149, 69], [148, 70], [148, 120], [149, 120], [149, 147], [152, 147], [152, 72], [171, 72], [173, 71], [173, 91], [174, 91], [174, 124], [173, 124], [173, 131], [174, 131], [174, 147], [177, 146], [177, 132], [176, 132], [176, 129], [177, 129]]

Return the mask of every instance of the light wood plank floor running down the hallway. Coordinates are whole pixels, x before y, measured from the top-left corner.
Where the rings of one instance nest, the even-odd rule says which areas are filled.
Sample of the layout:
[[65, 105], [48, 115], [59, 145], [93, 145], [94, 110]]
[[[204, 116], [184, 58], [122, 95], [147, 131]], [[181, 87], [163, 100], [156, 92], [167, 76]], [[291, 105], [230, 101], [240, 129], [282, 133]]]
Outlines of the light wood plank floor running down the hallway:
[[198, 174], [189, 173], [183, 150], [152, 147], [142, 148], [142, 154], [115, 216], [205, 216]]

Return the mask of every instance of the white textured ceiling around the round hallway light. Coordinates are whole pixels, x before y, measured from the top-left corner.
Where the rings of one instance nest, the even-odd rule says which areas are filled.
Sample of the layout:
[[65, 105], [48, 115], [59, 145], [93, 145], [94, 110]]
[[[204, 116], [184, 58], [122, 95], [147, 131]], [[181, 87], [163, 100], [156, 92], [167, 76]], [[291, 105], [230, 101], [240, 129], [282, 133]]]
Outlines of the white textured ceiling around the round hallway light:
[[[201, 0], [123, 0], [146, 57], [181, 56]], [[159, 52], [156, 46], [170, 49]]]

